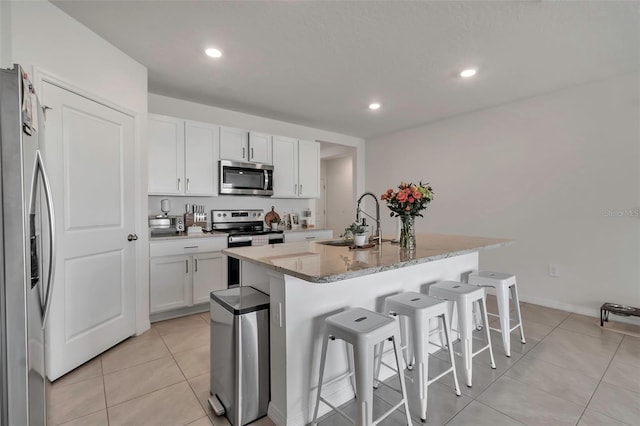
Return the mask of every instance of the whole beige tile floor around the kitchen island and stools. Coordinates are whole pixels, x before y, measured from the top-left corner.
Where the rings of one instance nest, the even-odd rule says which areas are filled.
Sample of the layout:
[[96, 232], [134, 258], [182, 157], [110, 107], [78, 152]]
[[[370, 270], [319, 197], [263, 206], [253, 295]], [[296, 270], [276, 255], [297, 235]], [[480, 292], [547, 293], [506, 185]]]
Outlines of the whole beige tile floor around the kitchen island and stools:
[[[496, 311], [489, 299], [489, 310]], [[602, 330], [597, 319], [522, 304], [527, 343], [512, 334], [512, 356], [504, 356], [492, 332], [497, 368], [488, 353], [474, 358], [473, 387], [453, 391], [451, 375], [429, 387], [427, 425], [638, 425], [640, 424], [640, 338]], [[614, 318], [612, 318], [614, 319]], [[446, 365], [446, 353], [429, 369]], [[397, 380], [397, 379], [395, 379]], [[393, 380], [390, 381], [393, 384]], [[207, 405], [209, 395], [208, 313], [158, 322], [138, 337], [87, 362], [48, 388], [50, 425], [228, 425]], [[392, 391], [375, 392], [374, 410], [395, 402]], [[410, 398], [414, 424], [420, 425]], [[355, 415], [353, 402], [344, 410]], [[400, 411], [383, 425], [402, 425]], [[321, 426], [347, 424], [328, 414]], [[264, 418], [256, 426], [271, 426]]]

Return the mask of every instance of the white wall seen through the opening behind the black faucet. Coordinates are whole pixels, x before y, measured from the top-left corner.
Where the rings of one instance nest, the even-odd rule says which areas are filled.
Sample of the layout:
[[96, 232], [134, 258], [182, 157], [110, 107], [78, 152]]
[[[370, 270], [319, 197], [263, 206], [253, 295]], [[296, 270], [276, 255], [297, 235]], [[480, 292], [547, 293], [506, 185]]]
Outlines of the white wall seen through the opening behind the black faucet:
[[353, 158], [322, 160], [327, 186], [327, 228], [338, 238], [356, 218], [353, 187]]

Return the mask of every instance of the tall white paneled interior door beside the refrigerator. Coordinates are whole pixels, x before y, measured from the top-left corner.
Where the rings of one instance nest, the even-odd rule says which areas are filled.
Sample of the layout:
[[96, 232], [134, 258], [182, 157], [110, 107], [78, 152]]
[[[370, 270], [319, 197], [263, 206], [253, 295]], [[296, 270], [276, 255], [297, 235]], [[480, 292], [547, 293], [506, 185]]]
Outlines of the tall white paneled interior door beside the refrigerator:
[[46, 328], [55, 380], [135, 333], [134, 119], [42, 87], [58, 254]]

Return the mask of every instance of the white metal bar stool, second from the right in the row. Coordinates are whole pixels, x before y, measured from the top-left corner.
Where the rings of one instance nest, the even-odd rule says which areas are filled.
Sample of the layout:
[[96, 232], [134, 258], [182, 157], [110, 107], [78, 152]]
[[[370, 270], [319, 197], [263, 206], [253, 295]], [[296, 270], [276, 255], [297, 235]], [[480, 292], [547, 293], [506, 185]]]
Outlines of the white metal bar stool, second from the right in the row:
[[[441, 281], [429, 286], [429, 296], [454, 302], [458, 311], [458, 328], [460, 332], [460, 344], [462, 346], [462, 360], [466, 373], [467, 386], [471, 387], [473, 357], [489, 349], [491, 368], [496, 368], [491, 348], [491, 336], [489, 335], [489, 320], [487, 317], [486, 295], [483, 287], [464, 284], [457, 281]], [[482, 320], [487, 344], [473, 352], [473, 304], [478, 303], [482, 311]], [[453, 305], [449, 308], [453, 315]]]

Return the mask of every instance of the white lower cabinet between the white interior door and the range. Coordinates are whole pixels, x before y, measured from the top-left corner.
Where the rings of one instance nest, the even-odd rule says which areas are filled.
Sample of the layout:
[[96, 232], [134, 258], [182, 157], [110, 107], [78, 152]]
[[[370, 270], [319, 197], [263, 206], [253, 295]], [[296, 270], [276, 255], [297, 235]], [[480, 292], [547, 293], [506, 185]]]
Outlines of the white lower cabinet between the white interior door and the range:
[[227, 287], [221, 250], [225, 238], [152, 241], [149, 312], [151, 314], [209, 302], [209, 293]]

